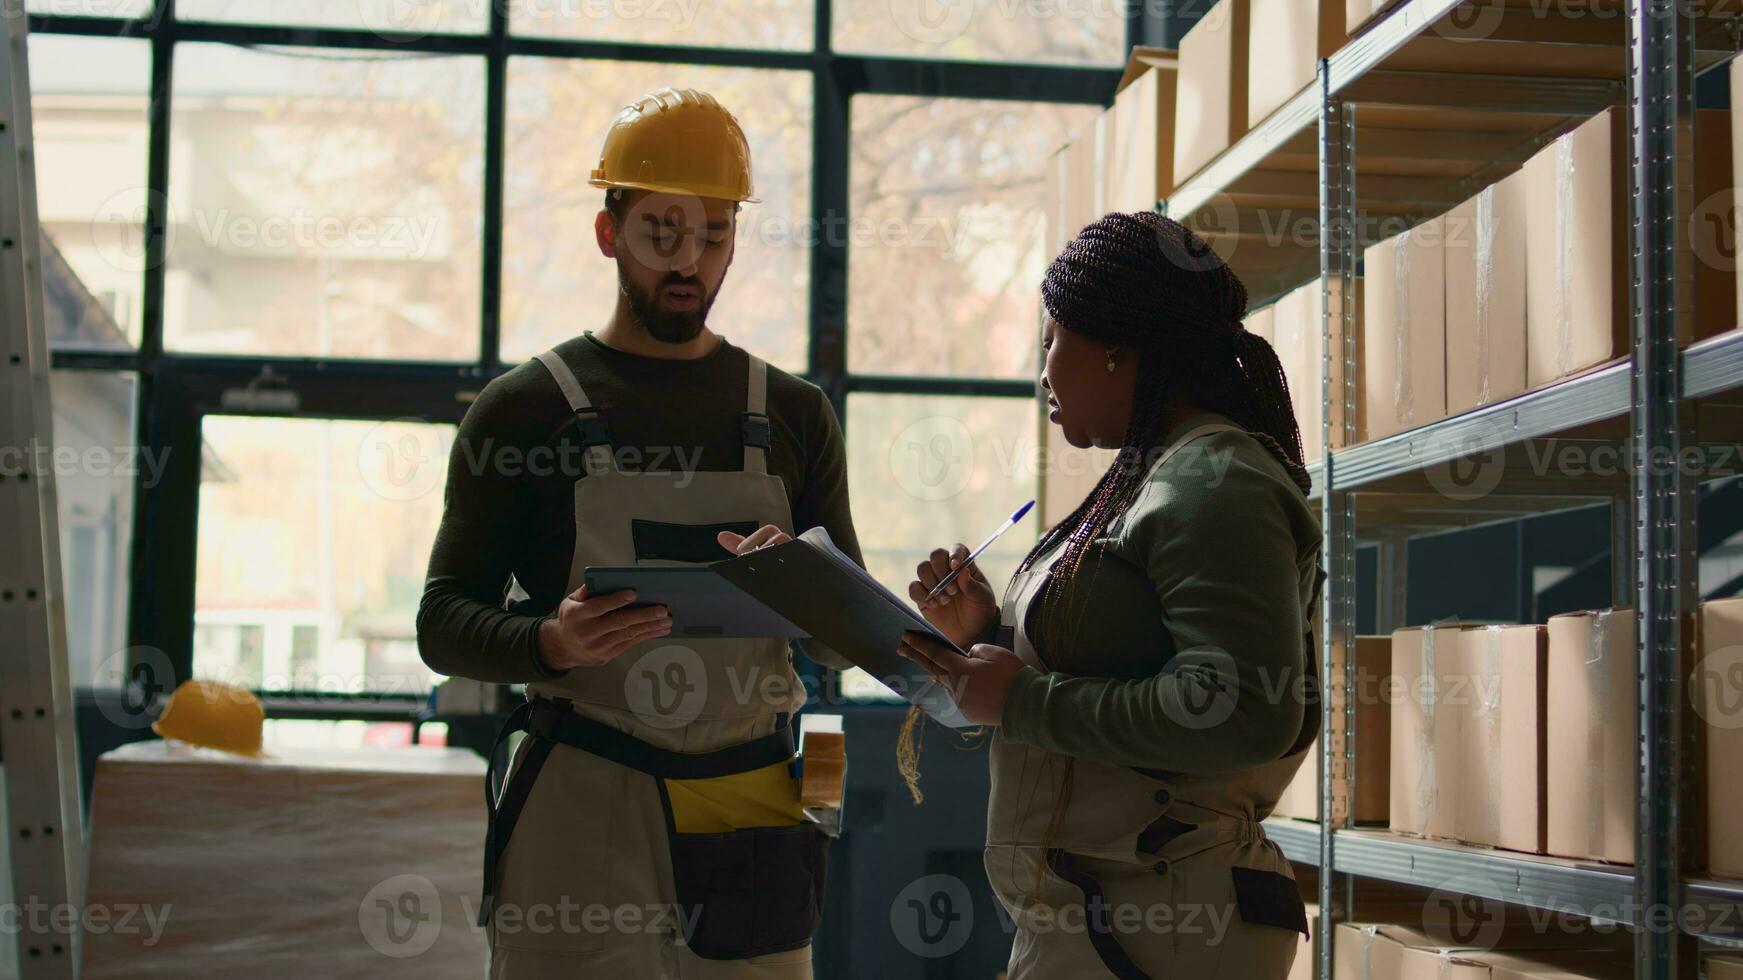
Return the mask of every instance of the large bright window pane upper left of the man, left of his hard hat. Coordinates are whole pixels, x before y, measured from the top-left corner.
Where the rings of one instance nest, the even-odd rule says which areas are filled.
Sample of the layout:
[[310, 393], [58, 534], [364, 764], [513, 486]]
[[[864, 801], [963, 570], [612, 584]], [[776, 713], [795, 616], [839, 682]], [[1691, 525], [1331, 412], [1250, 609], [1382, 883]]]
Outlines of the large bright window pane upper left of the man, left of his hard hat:
[[185, 44], [174, 92], [167, 347], [478, 357], [481, 59]]

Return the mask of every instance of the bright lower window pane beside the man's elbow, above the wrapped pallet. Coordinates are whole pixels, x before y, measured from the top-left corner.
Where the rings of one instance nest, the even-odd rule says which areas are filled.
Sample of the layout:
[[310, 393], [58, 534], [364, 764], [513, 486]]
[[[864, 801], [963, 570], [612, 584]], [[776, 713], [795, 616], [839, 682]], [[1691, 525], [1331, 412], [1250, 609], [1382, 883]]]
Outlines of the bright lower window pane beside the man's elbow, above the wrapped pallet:
[[422, 694], [415, 619], [451, 429], [207, 417], [193, 673]]

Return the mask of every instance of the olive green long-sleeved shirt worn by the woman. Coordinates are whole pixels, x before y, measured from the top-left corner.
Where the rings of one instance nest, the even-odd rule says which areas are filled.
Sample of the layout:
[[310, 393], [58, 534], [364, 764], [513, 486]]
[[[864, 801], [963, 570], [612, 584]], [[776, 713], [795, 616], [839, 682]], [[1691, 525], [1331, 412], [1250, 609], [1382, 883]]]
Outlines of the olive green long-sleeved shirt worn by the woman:
[[[1206, 422], [1227, 420], [1201, 415], [1170, 441]], [[1004, 736], [1173, 772], [1279, 759], [1302, 724], [1318, 558], [1319, 523], [1283, 466], [1246, 432], [1201, 436], [1091, 548], [1063, 649], [1035, 638], [1053, 670], [1016, 675]]]

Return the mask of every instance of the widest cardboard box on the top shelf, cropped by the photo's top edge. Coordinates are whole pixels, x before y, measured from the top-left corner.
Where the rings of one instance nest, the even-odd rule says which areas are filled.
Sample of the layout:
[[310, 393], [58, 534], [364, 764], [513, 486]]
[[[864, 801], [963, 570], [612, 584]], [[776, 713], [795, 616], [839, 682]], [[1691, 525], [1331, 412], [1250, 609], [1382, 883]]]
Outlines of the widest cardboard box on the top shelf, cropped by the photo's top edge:
[[1346, 37], [1344, 0], [1250, 0], [1246, 127], [1314, 84]]

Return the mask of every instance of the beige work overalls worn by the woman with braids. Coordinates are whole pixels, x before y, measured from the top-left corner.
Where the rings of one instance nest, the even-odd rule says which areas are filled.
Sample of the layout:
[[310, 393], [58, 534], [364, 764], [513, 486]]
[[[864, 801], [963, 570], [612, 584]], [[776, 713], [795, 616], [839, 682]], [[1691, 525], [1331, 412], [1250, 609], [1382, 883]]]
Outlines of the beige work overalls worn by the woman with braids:
[[[1168, 453], [1225, 429], [1194, 429]], [[1056, 546], [1016, 575], [1000, 607], [1013, 649], [1042, 671], [1051, 668], [1025, 623], [1058, 555]], [[1194, 776], [1056, 755], [995, 731], [985, 860], [1016, 924], [1009, 978], [1288, 975], [1302, 942], [1297, 929], [1306, 931], [1304, 905], [1260, 820], [1307, 752]], [[1048, 837], [1067, 779], [1070, 793]]]

